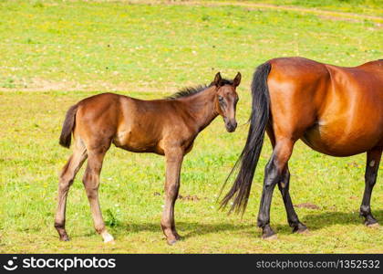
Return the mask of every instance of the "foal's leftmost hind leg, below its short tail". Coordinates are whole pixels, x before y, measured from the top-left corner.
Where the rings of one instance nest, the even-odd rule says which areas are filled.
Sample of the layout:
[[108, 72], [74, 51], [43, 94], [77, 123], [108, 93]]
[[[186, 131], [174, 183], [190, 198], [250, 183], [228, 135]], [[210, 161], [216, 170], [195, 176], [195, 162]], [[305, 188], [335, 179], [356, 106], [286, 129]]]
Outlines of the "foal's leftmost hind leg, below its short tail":
[[69, 157], [66, 165], [61, 171], [58, 183], [58, 197], [57, 197], [57, 212], [55, 217], [55, 227], [57, 229], [60, 240], [67, 241], [67, 231], [65, 229], [65, 220], [66, 220], [66, 206], [67, 206], [67, 192], [69, 187], [73, 184], [78, 170], [81, 165], [87, 159], [87, 150], [84, 144], [78, 139], [75, 142], [74, 152]]

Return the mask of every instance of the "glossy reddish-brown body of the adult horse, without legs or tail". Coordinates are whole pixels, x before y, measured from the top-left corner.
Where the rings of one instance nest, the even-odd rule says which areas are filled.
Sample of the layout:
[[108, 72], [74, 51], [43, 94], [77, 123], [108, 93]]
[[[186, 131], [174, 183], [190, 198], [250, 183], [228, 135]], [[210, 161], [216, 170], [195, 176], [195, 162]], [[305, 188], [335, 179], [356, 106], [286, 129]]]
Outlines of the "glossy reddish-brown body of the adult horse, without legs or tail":
[[334, 156], [363, 153], [383, 142], [381, 61], [355, 68], [306, 58], [276, 58], [270, 63], [277, 135], [301, 136], [316, 151]]

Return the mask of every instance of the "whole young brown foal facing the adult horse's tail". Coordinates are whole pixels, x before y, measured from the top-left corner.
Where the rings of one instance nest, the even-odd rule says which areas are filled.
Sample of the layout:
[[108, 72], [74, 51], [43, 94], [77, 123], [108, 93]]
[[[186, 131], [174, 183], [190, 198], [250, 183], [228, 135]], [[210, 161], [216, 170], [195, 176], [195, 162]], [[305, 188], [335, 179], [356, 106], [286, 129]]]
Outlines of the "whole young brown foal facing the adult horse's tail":
[[226, 130], [237, 126], [236, 87], [233, 80], [217, 73], [209, 86], [181, 90], [163, 100], [138, 100], [113, 93], [103, 93], [79, 101], [67, 111], [59, 143], [69, 147], [74, 136], [73, 154], [64, 166], [58, 184], [55, 227], [61, 240], [68, 240], [65, 229], [67, 192], [82, 163], [88, 158], [83, 184], [88, 195], [94, 227], [104, 242], [113, 241], [108, 233], [98, 203], [99, 174], [105, 153], [113, 142], [134, 153], [157, 153], [166, 158], [165, 206], [160, 226], [169, 244], [178, 235], [174, 222], [174, 204], [180, 187], [183, 156], [191, 151], [199, 132], [218, 115]]

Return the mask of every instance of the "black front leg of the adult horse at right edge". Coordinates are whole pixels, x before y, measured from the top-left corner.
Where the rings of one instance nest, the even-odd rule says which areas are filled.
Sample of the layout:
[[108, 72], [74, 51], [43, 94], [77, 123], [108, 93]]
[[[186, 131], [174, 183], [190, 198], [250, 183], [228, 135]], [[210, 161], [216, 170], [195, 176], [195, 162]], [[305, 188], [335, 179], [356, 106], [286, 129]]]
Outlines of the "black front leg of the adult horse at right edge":
[[360, 216], [365, 217], [365, 224], [367, 227], [376, 226], [378, 224], [378, 221], [371, 214], [370, 201], [372, 189], [377, 182], [381, 155], [381, 147], [367, 152], [365, 193], [363, 195], [362, 205], [360, 205]]

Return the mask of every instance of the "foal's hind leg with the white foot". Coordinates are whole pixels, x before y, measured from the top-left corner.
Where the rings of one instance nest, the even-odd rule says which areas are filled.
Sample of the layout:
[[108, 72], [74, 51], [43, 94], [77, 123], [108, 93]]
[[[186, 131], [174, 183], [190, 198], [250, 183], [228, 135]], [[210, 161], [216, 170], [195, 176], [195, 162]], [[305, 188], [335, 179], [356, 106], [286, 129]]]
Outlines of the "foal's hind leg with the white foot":
[[98, 144], [97, 149], [88, 149], [88, 166], [83, 177], [83, 183], [88, 195], [90, 211], [93, 217], [93, 223], [96, 231], [100, 234], [104, 242], [113, 241], [113, 237], [108, 233], [102, 218], [101, 209], [98, 202], [99, 174], [102, 168], [105, 153], [109, 149], [109, 145]]

